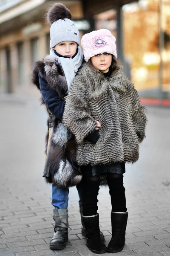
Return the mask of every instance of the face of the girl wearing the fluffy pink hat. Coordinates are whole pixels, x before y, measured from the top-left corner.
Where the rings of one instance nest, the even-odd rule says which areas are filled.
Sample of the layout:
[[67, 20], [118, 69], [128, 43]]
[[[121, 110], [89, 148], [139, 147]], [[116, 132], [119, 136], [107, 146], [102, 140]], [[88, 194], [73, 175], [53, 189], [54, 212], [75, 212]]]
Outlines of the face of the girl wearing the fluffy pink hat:
[[107, 73], [109, 71], [109, 67], [112, 62], [112, 55], [110, 53], [102, 53], [91, 57], [91, 62], [98, 70], [103, 73]]

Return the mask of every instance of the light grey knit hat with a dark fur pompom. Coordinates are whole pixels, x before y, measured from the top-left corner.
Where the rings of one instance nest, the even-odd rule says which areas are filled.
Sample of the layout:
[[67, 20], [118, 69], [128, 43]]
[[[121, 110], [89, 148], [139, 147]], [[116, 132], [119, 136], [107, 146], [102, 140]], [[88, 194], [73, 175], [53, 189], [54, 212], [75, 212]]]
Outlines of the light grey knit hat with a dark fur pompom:
[[79, 30], [72, 21], [70, 11], [62, 3], [52, 5], [47, 13], [47, 21], [51, 24], [50, 48], [63, 41], [73, 41], [78, 45], [80, 44]]

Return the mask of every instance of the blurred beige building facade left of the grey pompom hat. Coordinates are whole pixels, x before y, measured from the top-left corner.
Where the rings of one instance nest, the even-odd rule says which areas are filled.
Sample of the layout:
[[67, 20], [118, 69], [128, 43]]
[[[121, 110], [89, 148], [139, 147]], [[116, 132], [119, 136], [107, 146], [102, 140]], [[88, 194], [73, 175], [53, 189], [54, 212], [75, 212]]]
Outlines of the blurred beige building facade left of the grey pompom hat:
[[[63, 1], [61, 1], [63, 2]], [[0, 1], [0, 92], [27, 91], [34, 62], [49, 53], [45, 13], [55, 1]], [[82, 18], [79, 1], [65, 1], [76, 19]]]

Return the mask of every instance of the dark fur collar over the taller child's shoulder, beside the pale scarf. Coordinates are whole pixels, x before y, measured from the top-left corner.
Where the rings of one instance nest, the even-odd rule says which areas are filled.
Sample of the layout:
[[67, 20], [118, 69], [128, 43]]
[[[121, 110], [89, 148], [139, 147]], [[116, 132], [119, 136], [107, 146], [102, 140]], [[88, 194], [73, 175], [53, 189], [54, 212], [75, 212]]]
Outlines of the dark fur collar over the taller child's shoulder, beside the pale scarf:
[[47, 81], [48, 86], [56, 91], [59, 98], [63, 99], [68, 92], [67, 82], [61, 65], [55, 56], [46, 55], [42, 61], [37, 61], [31, 73], [31, 81], [40, 90], [38, 74]]

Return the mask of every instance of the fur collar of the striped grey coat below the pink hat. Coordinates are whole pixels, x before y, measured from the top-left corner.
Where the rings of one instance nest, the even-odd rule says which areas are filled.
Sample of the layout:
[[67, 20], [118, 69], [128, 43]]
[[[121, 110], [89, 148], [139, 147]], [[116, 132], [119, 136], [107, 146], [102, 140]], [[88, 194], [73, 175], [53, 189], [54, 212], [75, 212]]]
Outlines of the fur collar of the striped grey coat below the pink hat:
[[126, 77], [122, 67], [114, 70], [111, 76], [106, 78], [102, 73], [98, 73], [91, 69], [91, 67], [89, 67], [89, 65], [85, 62], [82, 64], [82, 67], [76, 76], [78, 76], [78, 79], [82, 78], [84, 81], [86, 81], [86, 84], [88, 87], [90, 87], [90, 98], [98, 98], [102, 93], [105, 92], [105, 90], [108, 90], [109, 88], [112, 88], [119, 94], [125, 94], [126, 92]]

